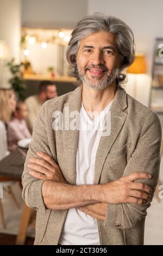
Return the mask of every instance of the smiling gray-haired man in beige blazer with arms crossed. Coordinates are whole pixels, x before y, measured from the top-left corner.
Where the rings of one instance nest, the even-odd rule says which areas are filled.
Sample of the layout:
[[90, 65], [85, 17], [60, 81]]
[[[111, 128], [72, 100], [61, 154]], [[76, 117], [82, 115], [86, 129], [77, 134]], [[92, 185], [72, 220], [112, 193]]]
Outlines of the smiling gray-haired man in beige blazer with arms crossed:
[[35, 245], [143, 244], [161, 125], [122, 87], [134, 57], [133, 32], [114, 16], [74, 28], [67, 60], [78, 87], [42, 106], [22, 175]]

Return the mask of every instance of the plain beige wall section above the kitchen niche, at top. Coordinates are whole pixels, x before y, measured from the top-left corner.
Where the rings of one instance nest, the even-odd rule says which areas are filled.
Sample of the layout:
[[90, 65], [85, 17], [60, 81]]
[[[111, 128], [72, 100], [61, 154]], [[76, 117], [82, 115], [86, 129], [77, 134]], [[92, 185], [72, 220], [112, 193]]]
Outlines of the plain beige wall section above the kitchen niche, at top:
[[22, 0], [22, 26], [73, 28], [87, 14], [87, 0]]

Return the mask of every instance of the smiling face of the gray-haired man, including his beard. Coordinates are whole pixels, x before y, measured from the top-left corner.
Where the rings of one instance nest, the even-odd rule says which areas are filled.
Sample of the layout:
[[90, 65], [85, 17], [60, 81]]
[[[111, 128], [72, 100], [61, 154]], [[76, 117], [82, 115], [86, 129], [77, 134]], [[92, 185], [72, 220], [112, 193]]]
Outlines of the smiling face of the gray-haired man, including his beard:
[[113, 34], [101, 31], [81, 40], [77, 66], [80, 79], [87, 86], [98, 90], [108, 87], [115, 81], [119, 64]]

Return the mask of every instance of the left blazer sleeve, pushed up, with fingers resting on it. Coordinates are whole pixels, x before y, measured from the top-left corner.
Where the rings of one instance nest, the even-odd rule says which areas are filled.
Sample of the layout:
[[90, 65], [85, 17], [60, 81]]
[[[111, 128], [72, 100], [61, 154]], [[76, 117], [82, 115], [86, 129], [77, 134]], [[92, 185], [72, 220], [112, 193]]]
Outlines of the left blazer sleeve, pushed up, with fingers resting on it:
[[46, 103], [41, 107], [39, 114], [37, 115], [33, 130], [32, 142], [29, 145], [26, 162], [24, 163], [24, 171], [22, 174], [23, 199], [30, 208], [43, 212], [47, 211], [42, 198], [43, 180], [36, 179], [30, 175], [27, 164], [30, 157], [38, 158], [36, 155], [37, 151], [42, 151], [52, 156], [47, 137], [45, 108]]

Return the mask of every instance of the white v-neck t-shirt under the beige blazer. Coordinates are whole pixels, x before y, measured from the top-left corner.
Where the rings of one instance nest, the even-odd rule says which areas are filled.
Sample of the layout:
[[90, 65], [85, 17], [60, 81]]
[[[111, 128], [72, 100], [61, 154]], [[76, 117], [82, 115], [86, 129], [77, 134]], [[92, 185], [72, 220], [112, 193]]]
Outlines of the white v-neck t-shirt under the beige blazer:
[[[103, 130], [99, 127], [111, 103], [112, 101], [93, 120], [90, 119], [82, 104], [77, 149], [77, 185], [94, 184], [95, 158]], [[59, 243], [61, 245], [100, 245], [97, 220], [77, 208], [69, 209]]]

